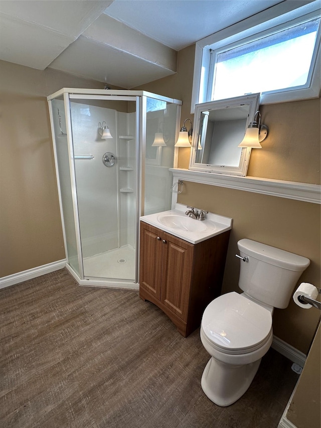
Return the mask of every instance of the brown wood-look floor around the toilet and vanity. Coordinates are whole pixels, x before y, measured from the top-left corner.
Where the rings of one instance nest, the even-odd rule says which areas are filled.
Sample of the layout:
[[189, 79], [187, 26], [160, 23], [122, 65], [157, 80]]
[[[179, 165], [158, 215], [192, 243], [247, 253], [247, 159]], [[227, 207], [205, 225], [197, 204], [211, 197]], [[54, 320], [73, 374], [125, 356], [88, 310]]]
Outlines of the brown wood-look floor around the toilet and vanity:
[[270, 349], [219, 407], [208, 354], [138, 292], [78, 287], [65, 269], [0, 290], [1, 428], [273, 428], [298, 375]]

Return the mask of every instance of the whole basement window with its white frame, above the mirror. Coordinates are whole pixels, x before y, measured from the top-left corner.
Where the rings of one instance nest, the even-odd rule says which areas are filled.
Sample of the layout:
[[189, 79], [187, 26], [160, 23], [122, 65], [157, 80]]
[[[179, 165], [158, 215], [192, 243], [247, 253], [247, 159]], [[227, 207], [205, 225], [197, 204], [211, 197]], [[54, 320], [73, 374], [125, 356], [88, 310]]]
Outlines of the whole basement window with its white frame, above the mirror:
[[262, 21], [245, 31], [243, 23], [243, 31], [232, 37], [213, 35], [212, 44], [206, 45], [210, 38], [203, 47], [199, 43], [202, 55], [196, 55], [195, 71], [198, 56], [202, 66], [199, 79], [194, 76], [192, 109], [193, 102], [257, 92], [261, 92], [261, 104], [319, 96], [319, 11], [303, 7]]

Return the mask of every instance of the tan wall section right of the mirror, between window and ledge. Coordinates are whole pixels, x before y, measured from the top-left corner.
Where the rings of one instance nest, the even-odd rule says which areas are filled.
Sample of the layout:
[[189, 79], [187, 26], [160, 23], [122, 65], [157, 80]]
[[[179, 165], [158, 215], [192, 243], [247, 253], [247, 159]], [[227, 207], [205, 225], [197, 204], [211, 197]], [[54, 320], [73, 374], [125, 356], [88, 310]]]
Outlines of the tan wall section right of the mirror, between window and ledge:
[[263, 105], [269, 135], [252, 150], [247, 175], [320, 184], [320, 99]]

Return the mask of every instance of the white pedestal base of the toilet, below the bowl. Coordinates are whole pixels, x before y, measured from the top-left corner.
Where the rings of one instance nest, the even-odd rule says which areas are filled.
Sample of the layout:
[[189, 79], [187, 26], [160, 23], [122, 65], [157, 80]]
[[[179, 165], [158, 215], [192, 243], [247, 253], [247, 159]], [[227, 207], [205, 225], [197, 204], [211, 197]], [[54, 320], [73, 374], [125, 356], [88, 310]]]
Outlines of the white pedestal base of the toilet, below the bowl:
[[225, 407], [235, 403], [247, 391], [261, 362], [225, 364], [211, 357], [201, 380], [202, 389], [215, 404]]

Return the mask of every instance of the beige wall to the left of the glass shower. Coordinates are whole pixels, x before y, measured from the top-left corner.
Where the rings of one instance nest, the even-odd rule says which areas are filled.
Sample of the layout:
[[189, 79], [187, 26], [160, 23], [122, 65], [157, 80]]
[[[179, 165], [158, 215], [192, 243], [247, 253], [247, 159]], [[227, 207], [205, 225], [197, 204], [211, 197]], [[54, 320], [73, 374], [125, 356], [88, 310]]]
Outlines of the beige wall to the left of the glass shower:
[[0, 62], [0, 277], [65, 258], [47, 95], [103, 83]]

